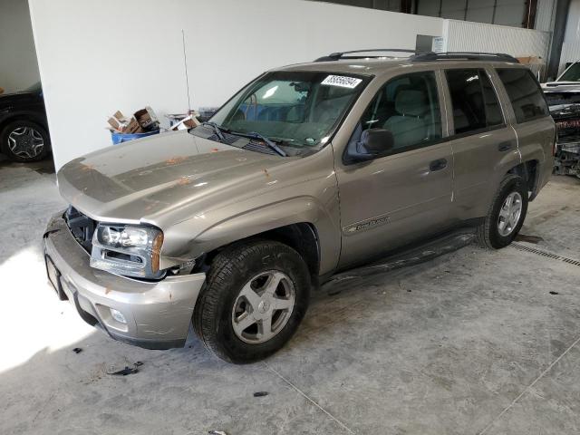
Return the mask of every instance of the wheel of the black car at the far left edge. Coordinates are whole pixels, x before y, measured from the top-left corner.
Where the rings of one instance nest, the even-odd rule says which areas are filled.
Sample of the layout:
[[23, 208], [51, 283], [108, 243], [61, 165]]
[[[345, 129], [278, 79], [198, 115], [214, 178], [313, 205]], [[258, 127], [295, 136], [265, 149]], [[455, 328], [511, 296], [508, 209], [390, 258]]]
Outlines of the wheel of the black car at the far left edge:
[[[18, 143], [18, 140], [24, 140], [24, 143]], [[39, 146], [41, 143], [42, 147]], [[50, 148], [51, 139], [48, 132], [42, 125], [33, 121], [12, 121], [0, 132], [0, 151], [13, 161], [43, 160]]]

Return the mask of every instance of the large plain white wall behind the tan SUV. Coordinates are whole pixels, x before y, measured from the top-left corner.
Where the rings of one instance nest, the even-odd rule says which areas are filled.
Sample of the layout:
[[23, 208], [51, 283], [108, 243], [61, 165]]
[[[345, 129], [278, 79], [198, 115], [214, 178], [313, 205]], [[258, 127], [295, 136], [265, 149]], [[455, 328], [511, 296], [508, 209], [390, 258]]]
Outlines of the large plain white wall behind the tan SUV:
[[267, 69], [357, 48], [414, 48], [442, 20], [302, 0], [30, 0], [56, 167], [110, 144], [106, 117], [215, 106]]

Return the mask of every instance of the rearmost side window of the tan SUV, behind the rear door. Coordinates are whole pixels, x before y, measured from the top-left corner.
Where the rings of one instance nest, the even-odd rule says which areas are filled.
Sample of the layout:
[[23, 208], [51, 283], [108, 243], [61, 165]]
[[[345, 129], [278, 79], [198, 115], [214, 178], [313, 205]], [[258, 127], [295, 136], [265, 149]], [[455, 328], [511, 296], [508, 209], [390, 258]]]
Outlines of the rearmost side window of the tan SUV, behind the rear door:
[[546, 100], [531, 71], [524, 68], [504, 68], [497, 71], [516, 112], [517, 123], [548, 114]]

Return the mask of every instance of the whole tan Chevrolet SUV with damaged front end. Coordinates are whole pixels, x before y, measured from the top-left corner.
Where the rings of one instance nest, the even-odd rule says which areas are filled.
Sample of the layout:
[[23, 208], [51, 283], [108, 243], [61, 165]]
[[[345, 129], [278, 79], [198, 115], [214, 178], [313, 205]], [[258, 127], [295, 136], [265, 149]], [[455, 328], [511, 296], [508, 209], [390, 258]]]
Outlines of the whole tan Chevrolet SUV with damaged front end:
[[179, 347], [193, 324], [219, 357], [256, 361], [338, 271], [466, 222], [506, 247], [554, 143], [506, 54], [334, 53], [262, 74], [189, 132], [66, 164], [48, 275], [115, 339]]

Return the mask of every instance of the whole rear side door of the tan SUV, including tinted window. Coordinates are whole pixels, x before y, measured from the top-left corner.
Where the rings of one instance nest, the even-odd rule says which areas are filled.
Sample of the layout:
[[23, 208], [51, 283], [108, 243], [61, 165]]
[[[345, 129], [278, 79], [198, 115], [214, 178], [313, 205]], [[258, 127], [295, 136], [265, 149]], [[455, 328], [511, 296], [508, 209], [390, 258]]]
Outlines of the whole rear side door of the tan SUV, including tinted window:
[[453, 218], [481, 218], [507, 170], [519, 163], [517, 137], [488, 70], [449, 67], [444, 76], [452, 114]]

